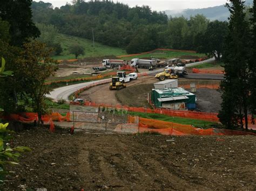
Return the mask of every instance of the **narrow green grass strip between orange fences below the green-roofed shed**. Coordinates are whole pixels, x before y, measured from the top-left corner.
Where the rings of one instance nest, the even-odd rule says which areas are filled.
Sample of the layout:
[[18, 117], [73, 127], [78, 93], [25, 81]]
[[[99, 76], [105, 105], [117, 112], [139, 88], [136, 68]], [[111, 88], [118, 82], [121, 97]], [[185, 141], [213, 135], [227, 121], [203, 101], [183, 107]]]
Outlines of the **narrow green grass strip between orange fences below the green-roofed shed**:
[[198, 119], [190, 119], [190, 118], [182, 118], [182, 117], [170, 117], [167, 115], [162, 114], [147, 114], [147, 113], [141, 113], [141, 112], [130, 112], [130, 115], [139, 116], [147, 119], [156, 119], [159, 121], [165, 121], [165, 122], [173, 122], [173, 123], [179, 123], [184, 125], [194, 125], [196, 127], [201, 127], [204, 129], [212, 128], [213, 126], [216, 126], [217, 123], [214, 122], [207, 122], [203, 120]]

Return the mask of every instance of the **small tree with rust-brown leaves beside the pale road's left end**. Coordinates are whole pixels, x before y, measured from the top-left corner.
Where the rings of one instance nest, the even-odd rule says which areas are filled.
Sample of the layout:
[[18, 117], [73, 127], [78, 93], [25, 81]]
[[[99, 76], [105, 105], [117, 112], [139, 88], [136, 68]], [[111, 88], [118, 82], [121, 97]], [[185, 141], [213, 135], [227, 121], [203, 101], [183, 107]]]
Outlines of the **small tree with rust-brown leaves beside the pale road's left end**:
[[31, 100], [33, 111], [37, 112], [39, 124], [42, 115], [45, 114], [45, 96], [51, 91], [44, 83], [50, 76], [55, 75], [57, 65], [56, 61], [50, 58], [52, 50], [46, 48], [44, 44], [32, 41], [23, 47], [17, 60], [22, 70], [18, 75], [24, 76], [22, 83], [27, 87], [24, 94]]

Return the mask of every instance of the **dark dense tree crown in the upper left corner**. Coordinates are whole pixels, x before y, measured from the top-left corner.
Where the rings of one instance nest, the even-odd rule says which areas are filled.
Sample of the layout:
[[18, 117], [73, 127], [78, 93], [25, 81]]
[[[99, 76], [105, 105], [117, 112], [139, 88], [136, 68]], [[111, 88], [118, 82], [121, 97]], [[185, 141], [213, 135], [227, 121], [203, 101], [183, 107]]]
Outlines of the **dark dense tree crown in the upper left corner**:
[[40, 32], [32, 22], [32, 0], [1, 1], [0, 17], [10, 24], [11, 44], [22, 46], [28, 38], [38, 37]]

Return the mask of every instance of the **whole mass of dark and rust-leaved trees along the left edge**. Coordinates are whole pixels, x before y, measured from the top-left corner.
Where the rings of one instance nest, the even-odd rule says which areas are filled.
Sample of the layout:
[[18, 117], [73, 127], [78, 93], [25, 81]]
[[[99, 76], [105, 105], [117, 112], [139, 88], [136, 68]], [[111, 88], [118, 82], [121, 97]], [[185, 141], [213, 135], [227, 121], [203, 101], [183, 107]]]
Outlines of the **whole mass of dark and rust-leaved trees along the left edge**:
[[41, 33], [32, 21], [31, 2], [4, 1], [0, 6], [0, 60], [11, 74], [0, 77], [0, 108], [5, 114], [37, 112], [39, 124], [51, 91], [44, 83], [57, 64], [50, 58], [53, 49], [35, 40]]

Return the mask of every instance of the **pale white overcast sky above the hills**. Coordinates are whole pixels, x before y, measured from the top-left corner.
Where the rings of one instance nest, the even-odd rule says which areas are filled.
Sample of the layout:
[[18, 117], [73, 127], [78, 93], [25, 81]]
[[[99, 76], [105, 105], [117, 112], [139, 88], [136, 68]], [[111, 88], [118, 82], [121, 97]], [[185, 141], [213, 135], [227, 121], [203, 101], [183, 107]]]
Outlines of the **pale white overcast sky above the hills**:
[[[49, 2], [53, 6], [60, 7], [65, 5], [67, 2], [71, 3], [71, 0], [35, 0], [36, 2], [43, 1]], [[88, 1], [88, 0], [87, 0]], [[117, 0], [113, 0], [117, 2]], [[164, 10], [181, 10], [181, 9], [198, 9], [198, 8], [208, 8], [210, 6], [223, 5], [227, 0], [118, 0], [129, 6], [136, 5], [149, 5], [152, 10], [164, 11]]]

